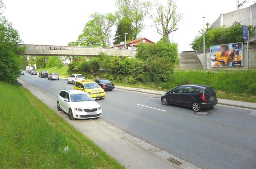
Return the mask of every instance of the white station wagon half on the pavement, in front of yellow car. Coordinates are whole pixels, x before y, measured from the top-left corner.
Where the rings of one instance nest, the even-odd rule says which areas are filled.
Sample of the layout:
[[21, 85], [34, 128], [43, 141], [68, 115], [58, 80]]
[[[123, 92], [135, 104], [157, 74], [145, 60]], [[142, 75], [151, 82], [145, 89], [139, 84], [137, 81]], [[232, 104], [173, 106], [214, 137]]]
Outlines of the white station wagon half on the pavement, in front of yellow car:
[[70, 120], [99, 118], [101, 106], [81, 90], [62, 90], [57, 97], [57, 109], [68, 113]]

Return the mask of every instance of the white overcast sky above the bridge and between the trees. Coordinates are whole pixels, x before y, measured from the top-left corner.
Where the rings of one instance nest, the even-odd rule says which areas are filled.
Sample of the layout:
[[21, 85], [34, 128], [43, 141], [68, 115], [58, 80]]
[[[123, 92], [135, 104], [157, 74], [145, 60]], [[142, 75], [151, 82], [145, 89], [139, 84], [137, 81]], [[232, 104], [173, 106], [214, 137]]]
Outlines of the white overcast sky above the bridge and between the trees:
[[[159, 3], [166, 4], [166, 1], [159, 0]], [[116, 0], [3, 0], [3, 2], [6, 5], [4, 15], [20, 32], [24, 43], [37, 45], [67, 45], [70, 41], [76, 41], [92, 12], [116, 11]], [[221, 13], [236, 10], [236, 0], [176, 0], [176, 4], [178, 11], [183, 14], [183, 19], [178, 25], [179, 29], [173, 33], [173, 40], [179, 44], [180, 52], [191, 50], [189, 44], [198, 34], [198, 30], [203, 28], [203, 16], [206, 17], [205, 23], [212, 24]], [[240, 9], [251, 4], [253, 3], [246, 3]], [[154, 12], [155, 10], [152, 9], [152, 13]], [[139, 37], [157, 42], [161, 35], [156, 32], [152, 20], [146, 18], [144, 24], [145, 29]], [[112, 30], [113, 35], [114, 33], [115, 27]]]

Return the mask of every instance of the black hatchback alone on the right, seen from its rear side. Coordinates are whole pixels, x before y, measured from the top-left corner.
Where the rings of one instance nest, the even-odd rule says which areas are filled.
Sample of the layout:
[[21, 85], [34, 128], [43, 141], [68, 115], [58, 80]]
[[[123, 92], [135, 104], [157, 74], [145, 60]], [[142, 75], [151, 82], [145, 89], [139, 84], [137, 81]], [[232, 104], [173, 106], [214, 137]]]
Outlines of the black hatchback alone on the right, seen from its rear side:
[[164, 105], [177, 104], [191, 107], [194, 111], [210, 108], [218, 103], [214, 89], [205, 85], [182, 85], [162, 95]]

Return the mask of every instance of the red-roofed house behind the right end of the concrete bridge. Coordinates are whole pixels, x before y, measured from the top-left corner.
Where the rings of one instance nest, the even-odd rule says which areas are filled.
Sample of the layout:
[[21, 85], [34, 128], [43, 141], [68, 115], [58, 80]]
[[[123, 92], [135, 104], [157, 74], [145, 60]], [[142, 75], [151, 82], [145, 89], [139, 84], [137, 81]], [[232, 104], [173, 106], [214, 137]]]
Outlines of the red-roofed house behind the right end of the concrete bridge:
[[[130, 50], [136, 50], [136, 46], [138, 46], [138, 44], [141, 43], [154, 43], [151, 40], [148, 40], [147, 38], [140, 38], [140, 39], [135, 39], [132, 41], [128, 41], [126, 42], [126, 49], [130, 49]], [[113, 49], [125, 49], [125, 42], [121, 42], [119, 44], [116, 44], [114, 46], [110, 46], [109, 48], [113, 48]]]

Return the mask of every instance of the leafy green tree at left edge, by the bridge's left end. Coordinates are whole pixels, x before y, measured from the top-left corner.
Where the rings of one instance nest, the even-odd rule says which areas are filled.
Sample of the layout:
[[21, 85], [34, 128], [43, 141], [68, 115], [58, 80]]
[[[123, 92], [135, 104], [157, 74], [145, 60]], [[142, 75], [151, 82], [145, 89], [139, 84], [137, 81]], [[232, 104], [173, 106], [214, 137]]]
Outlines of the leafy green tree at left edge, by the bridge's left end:
[[[0, 4], [0, 8], [2, 7], [3, 4]], [[12, 24], [0, 13], [0, 81], [10, 83], [19, 77], [24, 57], [16, 52], [25, 49], [18, 48], [21, 42], [18, 31], [13, 29]]]

